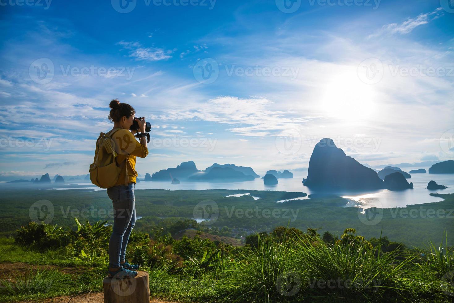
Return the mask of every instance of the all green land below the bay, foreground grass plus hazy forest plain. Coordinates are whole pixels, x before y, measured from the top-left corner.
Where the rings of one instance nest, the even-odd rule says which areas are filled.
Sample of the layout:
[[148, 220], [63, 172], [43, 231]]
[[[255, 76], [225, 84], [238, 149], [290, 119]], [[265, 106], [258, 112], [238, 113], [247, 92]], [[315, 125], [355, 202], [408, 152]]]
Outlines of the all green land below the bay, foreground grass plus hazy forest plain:
[[[261, 199], [225, 197], [245, 192]], [[178, 302], [452, 302], [453, 194], [380, 210], [376, 224], [338, 196], [275, 202], [297, 196], [136, 191], [143, 218], [127, 259], [148, 271], [153, 298]], [[30, 222], [30, 205], [43, 199], [53, 220]], [[104, 191], [15, 191], [3, 200], [0, 301], [102, 291], [112, 232]], [[191, 219], [201, 201], [215, 203], [214, 220]], [[412, 211], [423, 215], [405, 216]]]

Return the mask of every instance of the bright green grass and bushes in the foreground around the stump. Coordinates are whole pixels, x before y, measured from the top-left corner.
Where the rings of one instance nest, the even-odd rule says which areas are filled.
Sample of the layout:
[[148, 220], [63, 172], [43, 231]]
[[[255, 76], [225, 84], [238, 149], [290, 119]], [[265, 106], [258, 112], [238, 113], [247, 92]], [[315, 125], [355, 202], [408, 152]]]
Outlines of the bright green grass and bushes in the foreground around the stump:
[[[104, 235], [111, 226], [75, 221], [77, 231], [30, 222], [15, 239], [0, 239], [0, 265], [41, 265], [0, 279], [0, 301], [102, 290], [108, 265]], [[37, 234], [37, 230], [44, 232]], [[69, 242], [64, 247], [55, 244], [50, 253], [42, 243], [55, 233]], [[240, 247], [214, 244], [200, 234], [175, 240], [133, 233], [127, 258], [148, 271], [154, 298], [179, 302], [452, 300], [452, 284], [443, 280], [454, 270], [452, 249], [446, 245], [412, 250], [401, 243], [390, 245], [393, 242], [386, 237], [366, 240], [352, 228], [335, 237], [334, 244], [326, 243], [315, 229], [304, 233], [283, 226], [270, 234], [250, 235], [247, 241], [252, 245]]]

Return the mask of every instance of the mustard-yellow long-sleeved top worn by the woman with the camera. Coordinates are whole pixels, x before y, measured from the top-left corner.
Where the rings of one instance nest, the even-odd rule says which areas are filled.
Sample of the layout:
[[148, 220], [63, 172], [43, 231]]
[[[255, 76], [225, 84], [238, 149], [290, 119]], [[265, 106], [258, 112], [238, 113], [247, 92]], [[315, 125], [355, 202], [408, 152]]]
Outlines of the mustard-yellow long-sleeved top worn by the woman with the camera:
[[[120, 175], [118, 176], [117, 185], [124, 185], [126, 178], [126, 168], [128, 169], [128, 183], [136, 182], [137, 171], [136, 156], [145, 158], [148, 155], [148, 148], [137, 141], [137, 138], [128, 130], [120, 129], [111, 134], [112, 139], [115, 142], [115, 152], [118, 156], [115, 158], [117, 166], [121, 167]], [[129, 154], [129, 155], [128, 155]], [[125, 166], [125, 159], [128, 158]]]

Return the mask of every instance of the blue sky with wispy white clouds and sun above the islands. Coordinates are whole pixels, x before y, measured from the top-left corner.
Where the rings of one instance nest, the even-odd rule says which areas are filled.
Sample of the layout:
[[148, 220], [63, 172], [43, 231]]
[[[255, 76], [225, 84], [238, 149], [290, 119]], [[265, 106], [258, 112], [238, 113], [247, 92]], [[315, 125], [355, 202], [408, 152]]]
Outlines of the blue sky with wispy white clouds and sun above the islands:
[[454, 159], [453, 0], [0, 0], [0, 179], [87, 174], [118, 99], [144, 175]]

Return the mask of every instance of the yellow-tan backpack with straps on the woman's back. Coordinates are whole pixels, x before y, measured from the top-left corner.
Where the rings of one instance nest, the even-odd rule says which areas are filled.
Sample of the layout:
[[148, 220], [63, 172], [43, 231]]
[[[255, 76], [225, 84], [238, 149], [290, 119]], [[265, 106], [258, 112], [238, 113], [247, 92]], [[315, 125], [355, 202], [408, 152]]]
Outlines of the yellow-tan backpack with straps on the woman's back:
[[[115, 157], [118, 156], [115, 152], [115, 141], [112, 135], [117, 130], [122, 128], [115, 128], [107, 134], [101, 132], [98, 140], [96, 141], [96, 150], [94, 152], [94, 161], [90, 164], [90, 180], [91, 182], [101, 188], [113, 187], [118, 182], [121, 168], [117, 166]], [[128, 154], [129, 156], [129, 154]], [[124, 161], [126, 166], [126, 175], [124, 185], [128, 185], [128, 156]]]

